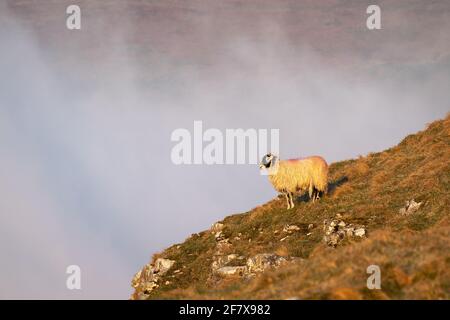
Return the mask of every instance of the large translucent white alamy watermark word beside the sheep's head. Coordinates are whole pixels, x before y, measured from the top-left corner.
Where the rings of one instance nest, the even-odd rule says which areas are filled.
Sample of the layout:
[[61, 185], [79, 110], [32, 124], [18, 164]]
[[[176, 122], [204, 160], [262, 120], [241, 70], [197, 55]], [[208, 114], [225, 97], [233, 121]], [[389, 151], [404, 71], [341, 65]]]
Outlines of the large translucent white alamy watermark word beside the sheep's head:
[[[270, 134], [270, 149], [268, 148]], [[188, 129], [172, 132], [174, 164], [258, 164], [265, 154], [279, 154], [279, 129], [226, 129], [203, 131], [203, 122], [194, 121], [193, 135]]]

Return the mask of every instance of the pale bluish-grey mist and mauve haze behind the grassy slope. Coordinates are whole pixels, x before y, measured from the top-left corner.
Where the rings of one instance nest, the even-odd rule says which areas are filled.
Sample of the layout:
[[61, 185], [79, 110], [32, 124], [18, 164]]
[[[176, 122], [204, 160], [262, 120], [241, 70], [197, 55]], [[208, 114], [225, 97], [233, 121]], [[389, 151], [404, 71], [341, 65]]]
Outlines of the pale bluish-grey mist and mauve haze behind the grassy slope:
[[276, 195], [257, 166], [172, 164], [194, 120], [331, 163], [450, 110], [446, 1], [384, 1], [380, 31], [364, 1], [80, 3], [68, 31], [70, 2], [0, 2], [0, 298], [128, 298], [153, 253]]

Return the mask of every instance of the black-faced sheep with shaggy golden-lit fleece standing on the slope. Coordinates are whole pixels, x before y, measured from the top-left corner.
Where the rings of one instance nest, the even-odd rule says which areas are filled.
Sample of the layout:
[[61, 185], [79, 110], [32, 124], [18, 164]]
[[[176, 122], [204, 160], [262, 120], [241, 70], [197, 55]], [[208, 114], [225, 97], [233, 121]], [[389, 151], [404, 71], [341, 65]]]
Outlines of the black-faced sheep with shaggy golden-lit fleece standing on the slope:
[[288, 209], [294, 208], [293, 195], [298, 191], [308, 191], [310, 199], [315, 202], [327, 190], [328, 164], [322, 157], [279, 160], [269, 153], [263, 157], [259, 167], [267, 170], [275, 190], [285, 195]]

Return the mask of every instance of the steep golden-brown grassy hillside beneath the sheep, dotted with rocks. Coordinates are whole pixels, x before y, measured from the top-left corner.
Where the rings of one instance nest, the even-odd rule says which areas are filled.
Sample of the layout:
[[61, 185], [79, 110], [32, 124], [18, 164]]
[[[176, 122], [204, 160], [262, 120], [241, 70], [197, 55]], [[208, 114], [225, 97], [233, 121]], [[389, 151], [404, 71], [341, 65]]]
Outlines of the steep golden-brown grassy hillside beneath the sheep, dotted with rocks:
[[[399, 145], [330, 166], [329, 193], [313, 204], [297, 199], [286, 210], [284, 198], [225, 218], [218, 249], [210, 230], [192, 235], [154, 256], [174, 260], [159, 286], [134, 298], [148, 299], [430, 299], [450, 298], [450, 116]], [[407, 200], [419, 210], [402, 215]], [[364, 226], [364, 237], [345, 237], [333, 248], [324, 240], [324, 220], [338, 215]], [[295, 225], [285, 232], [286, 225]], [[254, 277], [217, 276], [218, 256], [240, 260], [259, 253], [290, 259]], [[366, 268], [381, 269], [381, 290], [369, 290]]]

